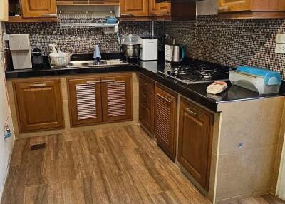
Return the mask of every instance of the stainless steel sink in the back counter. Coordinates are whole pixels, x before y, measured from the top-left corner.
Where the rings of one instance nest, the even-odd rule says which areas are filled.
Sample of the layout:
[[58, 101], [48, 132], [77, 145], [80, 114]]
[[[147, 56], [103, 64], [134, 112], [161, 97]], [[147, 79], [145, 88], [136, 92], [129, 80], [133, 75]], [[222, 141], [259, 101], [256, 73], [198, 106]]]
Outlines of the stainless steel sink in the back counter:
[[96, 63], [93, 60], [90, 61], [71, 61], [71, 63], [66, 66], [67, 68], [81, 68], [81, 67], [100, 67], [100, 66], [120, 66], [129, 64], [127, 61], [120, 59], [109, 59], [102, 60], [100, 63]]

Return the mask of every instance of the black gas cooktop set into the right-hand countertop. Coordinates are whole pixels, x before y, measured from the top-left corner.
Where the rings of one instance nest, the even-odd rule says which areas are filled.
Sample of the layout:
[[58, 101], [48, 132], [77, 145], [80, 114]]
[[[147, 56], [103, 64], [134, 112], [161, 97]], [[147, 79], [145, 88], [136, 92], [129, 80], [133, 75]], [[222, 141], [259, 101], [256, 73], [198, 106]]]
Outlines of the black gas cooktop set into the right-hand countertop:
[[229, 79], [229, 67], [205, 61], [193, 60], [180, 65], [165, 62], [165, 70], [157, 72], [187, 84]]

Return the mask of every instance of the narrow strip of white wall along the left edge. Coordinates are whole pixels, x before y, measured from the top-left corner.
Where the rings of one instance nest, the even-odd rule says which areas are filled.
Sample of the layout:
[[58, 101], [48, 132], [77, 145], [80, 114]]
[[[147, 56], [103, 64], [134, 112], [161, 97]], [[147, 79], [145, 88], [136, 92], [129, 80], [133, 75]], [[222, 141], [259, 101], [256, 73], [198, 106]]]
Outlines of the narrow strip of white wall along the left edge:
[[[0, 22], [0, 35], [4, 30], [3, 23]], [[2, 41], [0, 40], [0, 51], [2, 49]], [[6, 81], [4, 78], [4, 65], [0, 62], [0, 198], [4, 188], [4, 182], [6, 180], [7, 168], [11, 156], [11, 151], [14, 146], [14, 133], [12, 131], [12, 137], [4, 139], [4, 125], [7, 117], [9, 116], [9, 105], [6, 95]], [[11, 117], [9, 117], [8, 125], [13, 130]]]

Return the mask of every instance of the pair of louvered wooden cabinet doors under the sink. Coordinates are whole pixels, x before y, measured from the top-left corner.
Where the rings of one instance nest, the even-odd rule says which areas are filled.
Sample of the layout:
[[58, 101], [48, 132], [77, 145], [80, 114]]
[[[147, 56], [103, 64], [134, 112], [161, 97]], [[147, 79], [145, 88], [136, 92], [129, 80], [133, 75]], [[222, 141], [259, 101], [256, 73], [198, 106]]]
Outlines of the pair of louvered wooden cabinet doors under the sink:
[[131, 74], [69, 78], [71, 126], [132, 119]]

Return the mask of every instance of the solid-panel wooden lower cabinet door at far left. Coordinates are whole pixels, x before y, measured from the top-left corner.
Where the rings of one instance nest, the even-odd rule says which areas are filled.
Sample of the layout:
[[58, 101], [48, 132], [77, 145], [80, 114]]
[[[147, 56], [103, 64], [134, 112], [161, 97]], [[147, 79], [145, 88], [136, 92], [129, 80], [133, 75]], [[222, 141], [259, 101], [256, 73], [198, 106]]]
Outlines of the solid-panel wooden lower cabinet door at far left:
[[14, 93], [20, 133], [64, 127], [59, 79], [14, 82]]

